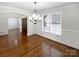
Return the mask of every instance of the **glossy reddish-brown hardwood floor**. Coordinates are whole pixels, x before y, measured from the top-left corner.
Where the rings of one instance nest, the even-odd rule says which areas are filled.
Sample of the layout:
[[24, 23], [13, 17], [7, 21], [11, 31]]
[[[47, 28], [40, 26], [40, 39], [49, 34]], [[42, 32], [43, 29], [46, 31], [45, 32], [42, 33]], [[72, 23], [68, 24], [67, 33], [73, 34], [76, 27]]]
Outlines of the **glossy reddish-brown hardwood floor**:
[[18, 29], [0, 36], [1, 57], [64, 57], [79, 56], [79, 50], [57, 43], [39, 35], [27, 37]]

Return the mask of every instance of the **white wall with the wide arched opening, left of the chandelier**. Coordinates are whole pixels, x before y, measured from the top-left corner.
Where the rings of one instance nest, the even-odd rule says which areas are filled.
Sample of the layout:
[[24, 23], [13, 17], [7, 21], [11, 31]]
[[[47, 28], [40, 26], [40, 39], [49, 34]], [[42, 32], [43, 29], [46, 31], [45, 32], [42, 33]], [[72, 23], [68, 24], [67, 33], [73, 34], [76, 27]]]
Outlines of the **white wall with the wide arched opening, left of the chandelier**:
[[[24, 16], [27, 17], [28, 21], [28, 17], [32, 15], [32, 13], [32, 11], [0, 5], [0, 35], [8, 34], [8, 18], [22, 18]], [[34, 34], [34, 24], [28, 21], [27, 25], [27, 35]]]

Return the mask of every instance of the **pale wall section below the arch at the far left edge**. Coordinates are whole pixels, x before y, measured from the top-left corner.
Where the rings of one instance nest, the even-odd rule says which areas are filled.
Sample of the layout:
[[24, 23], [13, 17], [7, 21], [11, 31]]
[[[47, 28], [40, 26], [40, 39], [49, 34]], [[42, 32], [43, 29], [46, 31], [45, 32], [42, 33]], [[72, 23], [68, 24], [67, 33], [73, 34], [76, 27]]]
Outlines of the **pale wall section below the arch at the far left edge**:
[[5, 15], [0, 15], [0, 35], [8, 33], [8, 19]]

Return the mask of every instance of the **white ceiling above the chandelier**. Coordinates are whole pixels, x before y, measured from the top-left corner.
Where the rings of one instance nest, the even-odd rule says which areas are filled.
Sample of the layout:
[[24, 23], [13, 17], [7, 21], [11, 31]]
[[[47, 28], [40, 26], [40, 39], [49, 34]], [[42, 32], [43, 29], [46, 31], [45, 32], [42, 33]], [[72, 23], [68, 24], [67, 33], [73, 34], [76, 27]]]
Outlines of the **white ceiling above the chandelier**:
[[[58, 7], [66, 4], [69, 4], [69, 2], [37, 2], [36, 9], [43, 10], [43, 9]], [[30, 10], [30, 11], [33, 11], [35, 9], [33, 2], [0, 2], [0, 5], [15, 7], [23, 10]]]

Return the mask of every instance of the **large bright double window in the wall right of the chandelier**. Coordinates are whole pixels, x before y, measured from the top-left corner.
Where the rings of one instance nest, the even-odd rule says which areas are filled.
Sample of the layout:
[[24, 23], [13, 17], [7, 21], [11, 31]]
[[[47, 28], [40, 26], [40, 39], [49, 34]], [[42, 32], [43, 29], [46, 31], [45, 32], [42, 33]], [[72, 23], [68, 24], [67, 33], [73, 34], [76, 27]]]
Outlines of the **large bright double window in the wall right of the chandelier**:
[[42, 30], [56, 35], [61, 35], [61, 14], [44, 15]]

